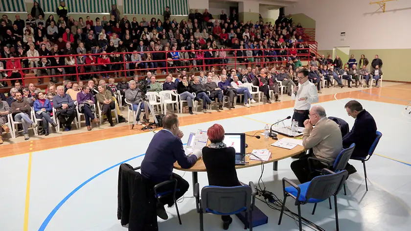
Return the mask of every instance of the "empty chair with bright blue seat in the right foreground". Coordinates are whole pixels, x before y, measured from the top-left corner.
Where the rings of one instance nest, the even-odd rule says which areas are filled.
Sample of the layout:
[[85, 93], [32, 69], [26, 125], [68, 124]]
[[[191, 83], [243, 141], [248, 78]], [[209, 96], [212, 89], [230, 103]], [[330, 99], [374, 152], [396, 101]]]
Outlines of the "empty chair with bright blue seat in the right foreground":
[[[317, 203], [325, 201], [331, 196], [334, 196], [335, 221], [337, 231], [339, 231], [337, 194], [341, 190], [342, 185], [347, 179], [348, 172], [346, 170], [342, 170], [338, 173], [334, 173], [329, 169], [323, 168], [322, 174], [323, 175], [321, 176], [315, 177], [312, 181], [300, 185], [296, 185], [289, 179], [283, 178], [284, 200], [281, 208], [280, 218], [278, 220], [278, 225], [281, 224], [281, 218], [284, 213], [284, 207], [287, 197], [291, 196], [296, 200], [295, 205], [298, 207], [298, 226], [299, 230], [302, 231], [300, 205], [315, 203], [313, 209], [314, 214]], [[291, 186], [286, 187], [286, 182]]]

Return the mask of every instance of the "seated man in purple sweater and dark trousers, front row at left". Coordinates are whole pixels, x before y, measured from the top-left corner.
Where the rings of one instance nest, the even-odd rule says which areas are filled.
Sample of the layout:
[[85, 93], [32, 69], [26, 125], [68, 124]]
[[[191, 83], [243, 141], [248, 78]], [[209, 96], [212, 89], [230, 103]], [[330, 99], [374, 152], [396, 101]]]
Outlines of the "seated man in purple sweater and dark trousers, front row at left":
[[77, 105], [78, 111], [84, 113], [84, 118], [86, 119], [87, 131], [91, 131], [91, 121], [98, 123], [98, 119], [94, 117], [93, 112], [95, 109], [93, 107], [95, 101], [93, 94], [90, 93], [90, 87], [87, 85], [83, 86], [83, 91], [77, 93]]

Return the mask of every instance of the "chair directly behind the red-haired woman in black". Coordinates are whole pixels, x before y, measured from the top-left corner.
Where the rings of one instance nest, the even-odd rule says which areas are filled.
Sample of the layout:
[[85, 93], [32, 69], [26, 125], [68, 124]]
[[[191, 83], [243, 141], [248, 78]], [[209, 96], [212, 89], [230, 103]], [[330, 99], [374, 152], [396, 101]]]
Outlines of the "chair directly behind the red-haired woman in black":
[[[249, 185], [220, 187], [205, 186], [201, 190], [198, 183], [194, 185], [194, 197], [196, 198], [197, 212], [200, 214], [200, 231], [204, 231], [203, 213], [216, 215], [233, 215], [245, 211], [246, 220], [252, 221], [252, 210], [255, 202], [255, 187], [252, 182]], [[250, 216], [250, 219], [248, 219]], [[252, 225], [246, 224], [244, 229], [252, 231]]]

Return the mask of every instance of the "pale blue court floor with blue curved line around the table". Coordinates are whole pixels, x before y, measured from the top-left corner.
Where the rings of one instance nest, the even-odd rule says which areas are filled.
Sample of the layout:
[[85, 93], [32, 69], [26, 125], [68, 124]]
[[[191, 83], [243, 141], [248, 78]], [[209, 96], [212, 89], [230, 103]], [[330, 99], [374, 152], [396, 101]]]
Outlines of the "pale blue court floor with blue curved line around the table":
[[[354, 119], [349, 117], [344, 104], [349, 99], [321, 103], [327, 116], [346, 120], [350, 128]], [[347, 195], [338, 196], [340, 230], [342, 231], [409, 231], [411, 230], [411, 116], [403, 105], [360, 101], [374, 116], [383, 137], [371, 160], [366, 163], [368, 188], [365, 191], [364, 172], [361, 162], [352, 163], [358, 170], [347, 181]], [[265, 123], [292, 115], [292, 109], [283, 109], [261, 114], [234, 117], [214, 122], [183, 126], [183, 143], [188, 134], [197, 129], [207, 129], [220, 123], [226, 132], [246, 132], [263, 129]], [[289, 123], [289, 122], [288, 122]], [[117, 173], [118, 164], [127, 162], [139, 166], [143, 154], [153, 137], [143, 133], [116, 139], [84, 143], [23, 154], [0, 159], [0, 231], [127, 231], [117, 220]], [[248, 138], [249, 139], [249, 138]], [[31, 174], [28, 179], [29, 159]], [[263, 180], [266, 188], [282, 199], [281, 179], [287, 177], [297, 181], [290, 169], [292, 159], [278, 163], [278, 171], [266, 164]], [[190, 184], [191, 173], [177, 171]], [[237, 170], [242, 182], [257, 184], [261, 167]], [[27, 185], [29, 182], [29, 185]], [[201, 186], [207, 185], [206, 173], [199, 173]], [[192, 185], [186, 198], [179, 203], [183, 225], [178, 224], [175, 208], [167, 208], [169, 219], [159, 219], [160, 231], [199, 230], [199, 217], [192, 198]], [[27, 193], [29, 188], [29, 193]], [[26, 198], [26, 196], [28, 197]], [[256, 201], [268, 217], [269, 223], [255, 231], [298, 230], [297, 222], [284, 216], [278, 223], [279, 211]], [[297, 212], [294, 200], [286, 206]], [[302, 216], [324, 230], [335, 230], [334, 210], [325, 201], [311, 215], [313, 205], [302, 206]], [[26, 210], [26, 212], [25, 212]], [[243, 230], [243, 224], [233, 217], [229, 230]], [[304, 230], [312, 230], [303, 227]], [[216, 215], [205, 215], [205, 230], [222, 230], [221, 219]]]

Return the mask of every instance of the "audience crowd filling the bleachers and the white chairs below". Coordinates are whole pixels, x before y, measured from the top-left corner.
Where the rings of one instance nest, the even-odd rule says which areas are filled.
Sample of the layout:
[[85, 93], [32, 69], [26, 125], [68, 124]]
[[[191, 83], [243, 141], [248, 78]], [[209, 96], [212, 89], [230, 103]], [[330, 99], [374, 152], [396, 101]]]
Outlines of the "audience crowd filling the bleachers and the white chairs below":
[[[56, 19], [37, 2], [30, 12], [17, 14], [14, 22], [3, 15], [0, 30], [1, 127], [8, 132], [8, 126], [22, 123], [16, 127], [25, 139], [29, 125], [35, 134], [47, 136], [49, 124], [69, 131], [72, 122], [80, 126], [81, 115], [88, 130], [102, 117], [114, 126], [111, 111], [117, 122], [125, 121], [122, 106], [138, 112], [137, 124], [143, 123], [137, 108], [141, 80], [160, 102], [160, 93], [167, 91], [184, 100], [189, 114], [197, 111], [197, 103], [207, 113], [211, 106], [235, 108], [239, 98], [245, 107], [257, 98], [278, 102], [281, 94], [291, 95], [302, 61], [308, 61], [309, 78], [319, 93], [334, 81], [343, 87], [346, 79], [351, 87], [351, 81], [357, 85], [360, 80], [352, 77], [357, 76], [352, 66], [343, 69], [338, 57], [317, 60], [310, 49], [313, 41], [291, 15], [279, 16], [274, 24], [253, 23], [206, 9], [190, 10], [187, 21], [177, 22], [167, 7], [163, 18], [137, 22], [113, 5], [110, 17], [74, 19], [65, 2], [56, 9]], [[382, 75], [378, 67], [372, 71]]]

